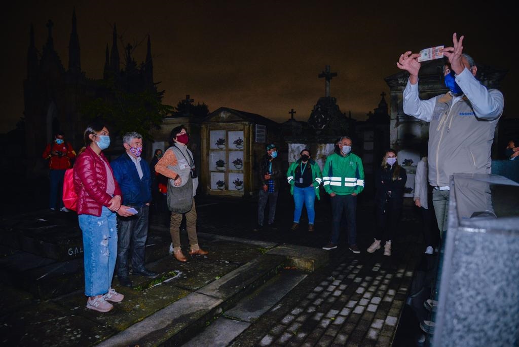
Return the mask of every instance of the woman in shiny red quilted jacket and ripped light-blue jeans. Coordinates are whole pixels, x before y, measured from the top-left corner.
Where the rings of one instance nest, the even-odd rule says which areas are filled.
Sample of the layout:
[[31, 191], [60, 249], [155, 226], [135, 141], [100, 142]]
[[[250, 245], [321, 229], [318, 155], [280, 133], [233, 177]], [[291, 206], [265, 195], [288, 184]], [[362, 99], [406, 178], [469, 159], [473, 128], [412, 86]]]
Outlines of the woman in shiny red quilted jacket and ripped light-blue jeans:
[[87, 308], [108, 312], [124, 296], [112, 289], [117, 257], [117, 219], [131, 216], [121, 205], [121, 190], [102, 150], [110, 145], [108, 129], [94, 122], [85, 130], [85, 152], [74, 164], [79, 227], [83, 232]]

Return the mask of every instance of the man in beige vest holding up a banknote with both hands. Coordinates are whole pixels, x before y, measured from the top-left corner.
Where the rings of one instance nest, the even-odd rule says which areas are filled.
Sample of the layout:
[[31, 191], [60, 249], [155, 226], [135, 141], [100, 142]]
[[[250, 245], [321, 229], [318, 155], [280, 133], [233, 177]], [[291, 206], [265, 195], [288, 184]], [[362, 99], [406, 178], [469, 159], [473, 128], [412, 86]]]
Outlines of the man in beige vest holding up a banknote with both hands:
[[[397, 62], [409, 73], [403, 93], [404, 113], [429, 122], [429, 184], [440, 234], [447, 229], [449, 179], [455, 172], [490, 174], [490, 148], [503, 113], [497, 89], [487, 89], [476, 78], [477, 66], [463, 54], [463, 36], [453, 34], [453, 46], [427, 51], [429, 57], [407, 51]], [[438, 47], [435, 47], [438, 48]], [[443, 67], [447, 94], [428, 100], [418, 97], [420, 61], [447, 58]]]

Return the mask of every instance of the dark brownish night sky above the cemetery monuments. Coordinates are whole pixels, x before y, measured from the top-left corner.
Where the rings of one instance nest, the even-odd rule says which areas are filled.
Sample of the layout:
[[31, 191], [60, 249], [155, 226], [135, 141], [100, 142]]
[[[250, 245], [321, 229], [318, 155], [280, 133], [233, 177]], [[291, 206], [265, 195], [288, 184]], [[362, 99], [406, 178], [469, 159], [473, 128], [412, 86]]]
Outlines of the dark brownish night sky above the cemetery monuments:
[[[67, 68], [74, 7], [81, 68], [87, 77], [102, 77], [115, 22], [125, 43], [142, 42], [133, 55], [138, 63], [145, 58], [145, 38], [151, 35], [155, 82], [161, 82], [159, 89], [166, 90], [163, 102], [170, 105], [189, 94], [210, 111], [227, 106], [282, 122], [294, 108], [295, 118], [306, 121], [313, 104], [324, 96], [324, 81], [317, 75], [329, 64], [338, 73], [331, 94], [340, 109], [364, 120], [376, 108], [380, 92], [388, 94], [384, 78], [400, 71], [396, 62], [402, 52], [451, 45], [452, 33], [457, 32], [466, 36], [465, 52], [476, 62], [509, 70], [502, 83], [504, 113], [516, 116], [507, 107], [517, 95], [515, 11], [502, 5], [482, 8], [474, 2], [402, 2], [404, 8], [390, 2], [351, 3], [128, 0], [8, 5], [2, 13], [0, 132], [14, 128], [23, 116], [31, 23], [41, 51], [47, 39], [45, 24], [53, 21], [54, 47]], [[121, 57], [122, 47], [119, 42]]]

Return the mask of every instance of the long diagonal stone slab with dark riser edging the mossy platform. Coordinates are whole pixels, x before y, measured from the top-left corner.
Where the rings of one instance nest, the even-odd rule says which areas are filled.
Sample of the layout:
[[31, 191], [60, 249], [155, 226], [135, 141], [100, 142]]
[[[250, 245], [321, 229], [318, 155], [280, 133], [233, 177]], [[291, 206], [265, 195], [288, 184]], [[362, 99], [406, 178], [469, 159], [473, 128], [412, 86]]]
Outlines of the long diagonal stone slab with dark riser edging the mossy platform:
[[285, 261], [283, 256], [260, 255], [99, 345], [182, 344], [276, 275]]

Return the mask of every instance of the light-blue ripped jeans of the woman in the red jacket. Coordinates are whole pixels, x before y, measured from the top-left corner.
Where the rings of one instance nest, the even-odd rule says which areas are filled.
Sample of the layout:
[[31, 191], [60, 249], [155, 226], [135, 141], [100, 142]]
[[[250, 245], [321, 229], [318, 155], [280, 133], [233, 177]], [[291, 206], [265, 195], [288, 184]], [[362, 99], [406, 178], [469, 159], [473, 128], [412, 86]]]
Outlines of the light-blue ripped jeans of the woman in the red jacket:
[[79, 215], [83, 232], [85, 295], [94, 297], [112, 287], [117, 259], [116, 213], [103, 206], [101, 216]]

